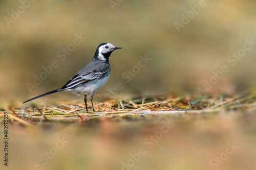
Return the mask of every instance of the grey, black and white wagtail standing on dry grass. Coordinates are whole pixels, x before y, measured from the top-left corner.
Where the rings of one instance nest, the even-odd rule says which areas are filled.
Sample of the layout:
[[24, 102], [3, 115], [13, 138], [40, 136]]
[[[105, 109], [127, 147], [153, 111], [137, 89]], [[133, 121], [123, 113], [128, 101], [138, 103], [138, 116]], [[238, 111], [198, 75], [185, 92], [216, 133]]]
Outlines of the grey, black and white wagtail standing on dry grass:
[[65, 85], [58, 89], [38, 95], [35, 98], [29, 99], [23, 103], [41, 98], [42, 96], [65, 91], [74, 93], [78, 96], [83, 94], [84, 104], [86, 105], [86, 111], [88, 112], [87, 94], [90, 93], [93, 112], [95, 112], [93, 106], [94, 92], [100, 89], [108, 81], [110, 76], [109, 57], [112, 52], [118, 49], [121, 49], [121, 47], [114, 46], [111, 43], [99, 44], [90, 63], [78, 71], [77, 74], [75, 74]]

